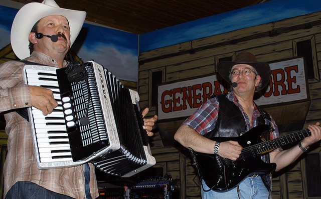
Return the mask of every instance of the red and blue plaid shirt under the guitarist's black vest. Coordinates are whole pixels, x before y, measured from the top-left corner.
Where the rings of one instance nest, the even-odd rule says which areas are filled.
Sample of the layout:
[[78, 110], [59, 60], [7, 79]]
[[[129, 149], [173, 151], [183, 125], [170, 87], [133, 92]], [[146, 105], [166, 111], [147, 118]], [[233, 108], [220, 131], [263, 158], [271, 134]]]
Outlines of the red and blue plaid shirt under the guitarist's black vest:
[[[229, 92], [226, 96], [230, 101], [233, 101], [235, 105], [237, 105], [242, 112], [245, 122], [246, 122], [246, 131], [253, 128], [254, 126], [257, 126], [257, 118], [260, 116], [260, 112], [257, 109], [257, 107], [254, 105], [254, 110], [251, 118], [251, 124], [250, 119], [245, 113], [243, 107], [239, 103], [236, 96], [233, 94], [233, 92]], [[189, 118], [187, 118], [183, 124], [193, 128], [201, 135], [207, 134], [207, 132], [213, 130], [216, 125], [218, 113], [219, 113], [219, 102], [217, 97], [213, 97], [208, 99], [206, 102], [204, 102], [194, 114], [192, 114]], [[270, 116], [271, 117], [271, 116]], [[270, 124], [270, 121], [265, 119], [266, 124]], [[273, 127], [273, 131], [270, 133], [270, 139], [277, 138], [279, 136], [278, 128], [275, 124], [275, 121], [271, 117], [271, 124]], [[276, 148], [274, 151], [281, 150], [281, 148]], [[263, 161], [265, 160], [265, 157], [262, 156]]]

